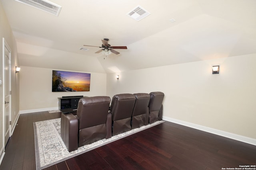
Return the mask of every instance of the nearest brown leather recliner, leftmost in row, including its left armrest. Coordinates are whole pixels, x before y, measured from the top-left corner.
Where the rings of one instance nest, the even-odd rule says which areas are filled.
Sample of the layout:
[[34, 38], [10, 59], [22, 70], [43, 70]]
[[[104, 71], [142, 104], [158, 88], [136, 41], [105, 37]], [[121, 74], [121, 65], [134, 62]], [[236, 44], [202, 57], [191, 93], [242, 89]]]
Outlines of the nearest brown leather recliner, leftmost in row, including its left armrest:
[[69, 152], [112, 136], [109, 105], [108, 96], [81, 98], [78, 102], [77, 117], [71, 113], [62, 113], [61, 137]]

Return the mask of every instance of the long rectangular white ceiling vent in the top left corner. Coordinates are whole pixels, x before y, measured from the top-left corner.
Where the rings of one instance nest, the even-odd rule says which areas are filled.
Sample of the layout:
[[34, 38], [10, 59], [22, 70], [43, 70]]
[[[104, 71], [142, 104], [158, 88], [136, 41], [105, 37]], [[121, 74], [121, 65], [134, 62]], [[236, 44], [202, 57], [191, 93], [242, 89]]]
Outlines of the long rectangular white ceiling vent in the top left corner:
[[16, 1], [29, 6], [33, 6], [34, 8], [37, 8], [44, 12], [48, 12], [55, 16], [58, 16], [61, 10], [61, 6], [54, 4], [48, 0], [16, 0]]

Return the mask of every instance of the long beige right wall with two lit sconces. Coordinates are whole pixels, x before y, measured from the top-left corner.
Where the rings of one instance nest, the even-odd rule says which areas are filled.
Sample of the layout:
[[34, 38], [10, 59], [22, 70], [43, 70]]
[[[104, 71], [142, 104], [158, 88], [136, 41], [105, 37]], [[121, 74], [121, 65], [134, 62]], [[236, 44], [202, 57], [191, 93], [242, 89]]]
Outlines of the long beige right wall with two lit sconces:
[[[212, 74], [220, 65], [220, 74]], [[255, 139], [256, 54], [107, 75], [107, 95], [164, 92], [164, 119]], [[120, 79], [116, 79], [116, 74]]]

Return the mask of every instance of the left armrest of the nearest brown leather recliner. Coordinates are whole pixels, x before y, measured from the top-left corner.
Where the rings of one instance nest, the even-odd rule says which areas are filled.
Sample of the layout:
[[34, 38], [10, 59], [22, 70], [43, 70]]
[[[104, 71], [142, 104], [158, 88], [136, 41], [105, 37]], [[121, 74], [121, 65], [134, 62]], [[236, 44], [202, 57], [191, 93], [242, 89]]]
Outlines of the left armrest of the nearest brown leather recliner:
[[60, 136], [69, 152], [78, 149], [78, 119], [72, 113], [61, 114]]

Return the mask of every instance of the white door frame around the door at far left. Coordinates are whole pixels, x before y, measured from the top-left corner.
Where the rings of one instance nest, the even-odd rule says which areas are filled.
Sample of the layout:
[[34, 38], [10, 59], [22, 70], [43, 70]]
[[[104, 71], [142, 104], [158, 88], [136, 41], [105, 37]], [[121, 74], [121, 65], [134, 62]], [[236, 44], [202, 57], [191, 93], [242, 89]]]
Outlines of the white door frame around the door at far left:
[[[11, 91], [11, 62], [12, 62], [12, 51], [10, 46], [8, 45], [6, 39], [3, 38], [3, 147], [5, 148], [5, 104], [4, 104], [4, 99], [5, 99], [5, 90], [6, 90], [6, 83], [5, 83], [5, 48], [8, 50], [10, 53], [10, 63], [9, 63], [9, 91]], [[12, 108], [12, 94], [10, 94], [10, 101], [9, 101], [9, 122], [12, 120], [11, 119], [11, 108]], [[11, 137], [11, 125], [9, 123], [9, 137]]]

